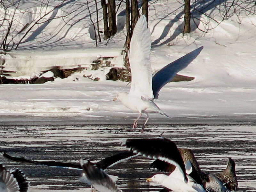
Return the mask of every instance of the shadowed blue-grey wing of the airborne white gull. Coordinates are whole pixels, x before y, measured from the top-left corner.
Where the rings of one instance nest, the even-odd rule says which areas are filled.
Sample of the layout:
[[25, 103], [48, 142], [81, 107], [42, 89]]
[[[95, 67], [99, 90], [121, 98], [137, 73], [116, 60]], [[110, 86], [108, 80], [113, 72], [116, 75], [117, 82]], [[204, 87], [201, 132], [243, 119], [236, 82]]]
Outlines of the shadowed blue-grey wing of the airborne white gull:
[[152, 78], [152, 90], [154, 94], [154, 99], [158, 98], [158, 92], [160, 89], [170, 82], [173, 77], [178, 73], [181, 69], [184, 69], [191, 63], [197, 55], [202, 51], [204, 47], [199, 47], [196, 50], [189, 52], [183, 57], [173, 61], [172, 63], [166, 65], [164, 68], [159, 70]]

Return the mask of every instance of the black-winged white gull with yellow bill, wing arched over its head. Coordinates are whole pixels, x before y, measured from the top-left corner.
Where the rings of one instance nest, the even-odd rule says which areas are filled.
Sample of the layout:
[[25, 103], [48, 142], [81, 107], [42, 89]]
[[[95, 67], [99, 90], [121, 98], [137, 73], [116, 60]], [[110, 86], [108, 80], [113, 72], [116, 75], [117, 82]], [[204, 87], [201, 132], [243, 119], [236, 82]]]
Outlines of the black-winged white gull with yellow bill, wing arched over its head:
[[205, 192], [203, 186], [189, 176], [193, 172], [190, 161], [184, 164], [176, 144], [166, 138], [128, 139], [125, 143], [133, 153], [170, 165], [170, 175], [156, 174], [147, 181], [155, 181], [174, 192]]

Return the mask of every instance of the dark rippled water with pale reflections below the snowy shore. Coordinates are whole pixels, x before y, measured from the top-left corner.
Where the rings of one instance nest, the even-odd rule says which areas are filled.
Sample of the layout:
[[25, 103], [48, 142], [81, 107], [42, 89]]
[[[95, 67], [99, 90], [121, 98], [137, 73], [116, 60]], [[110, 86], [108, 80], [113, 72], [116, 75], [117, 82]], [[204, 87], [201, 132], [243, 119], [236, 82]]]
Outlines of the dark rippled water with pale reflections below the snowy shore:
[[[0, 126], [0, 148], [12, 156], [31, 160], [55, 160], [79, 163], [81, 158], [97, 162], [102, 158], [128, 150], [120, 142], [128, 138], [163, 136], [176, 142], [178, 148], [191, 148], [201, 169], [220, 173], [227, 158], [236, 162], [238, 191], [256, 191], [256, 125], [172, 124], [148, 125], [144, 134], [130, 125], [8, 125]], [[156, 173], [152, 161], [140, 157], [117, 164], [107, 170], [119, 176], [117, 185], [123, 191], [159, 191], [161, 187], [147, 183]], [[24, 165], [0, 157], [8, 168], [23, 170], [30, 181], [30, 192], [91, 191], [76, 178], [77, 170]]]

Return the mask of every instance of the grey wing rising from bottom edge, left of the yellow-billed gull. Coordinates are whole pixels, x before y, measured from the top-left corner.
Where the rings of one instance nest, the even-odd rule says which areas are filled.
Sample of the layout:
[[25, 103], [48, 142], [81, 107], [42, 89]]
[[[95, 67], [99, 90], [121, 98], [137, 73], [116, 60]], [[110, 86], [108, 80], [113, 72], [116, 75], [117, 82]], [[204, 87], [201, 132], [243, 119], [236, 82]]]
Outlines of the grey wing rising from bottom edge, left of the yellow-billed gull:
[[81, 159], [81, 166], [87, 179], [92, 186], [100, 192], [122, 192], [116, 183], [100, 169], [96, 164], [92, 164], [89, 160]]

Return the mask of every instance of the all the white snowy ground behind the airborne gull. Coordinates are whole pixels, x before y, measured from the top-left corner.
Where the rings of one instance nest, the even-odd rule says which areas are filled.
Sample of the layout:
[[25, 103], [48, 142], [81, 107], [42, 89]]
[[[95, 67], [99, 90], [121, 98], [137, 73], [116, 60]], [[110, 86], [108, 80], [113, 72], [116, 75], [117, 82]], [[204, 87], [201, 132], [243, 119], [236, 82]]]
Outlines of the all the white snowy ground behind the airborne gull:
[[[91, 7], [95, 9], [92, 3]], [[22, 9], [25, 10], [27, 5], [34, 6], [25, 2], [22, 4]], [[217, 27], [209, 30], [208, 33], [203, 33], [196, 29], [195, 24], [192, 24], [192, 32], [183, 37], [180, 33], [183, 19], [179, 20], [174, 14], [168, 14], [179, 7], [179, 3], [157, 1], [150, 6], [151, 64], [154, 72], [197, 47], [204, 46], [199, 56], [179, 73], [193, 76], [195, 79], [190, 82], [167, 84], [161, 90], [159, 99], [156, 100], [157, 105], [171, 117], [231, 116], [230, 118], [236, 119], [243, 116], [246, 119], [248, 116], [248, 121], [254, 121], [256, 114], [255, 15], [246, 16], [241, 13], [239, 16], [224, 20], [220, 25], [210, 20], [209, 25]], [[92, 28], [89, 25], [88, 15], [84, 17], [86, 19], [81, 19], [81, 14], [77, 14], [74, 18], [81, 22], [76, 22], [74, 28], [66, 26], [69, 27], [68, 33], [65, 33], [65, 27], [63, 31], [59, 27], [53, 27], [63, 24], [56, 19], [43, 29], [38, 29], [41, 33], [37, 30], [37, 34], [31, 34], [28, 39], [30, 41], [21, 44], [19, 51], [11, 52], [6, 56], [9, 59], [6, 59], [4, 68], [17, 71], [16, 76], [33, 76], [36, 72], [52, 66], [89, 67], [92, 60], [103, 56], [115, 57], [111, 64], [121, 67], [123, 58], [121, 52], [125, 39], [125, 28], [122, 29], [123, 8], [121, 6], [118, 10], [119, 32], [110, 39], [107, 46], [100, 44], [100, 47], [95, 47], [95, 42], [91, 38]], [[78, 10], [88, 13], [84, 7]], [[181, 8], [177, 9], [175, 14], [180, 16], [181, 10]], [[61, 14], [60, 11], [56, 13], [57, 16]], [[217, 12], [212, 10], [214, 11]], [[95, 12], [93, 14], [95, 15]], [[207, 20], [204, 15], [197, 15], [197, 17], [202, 21]], [[26, 22], [22, 16], [20, 18], [22, 18], [20, 21]], [[238, 23], [238, 18], [241, 24]], [[220, 17], [216, 20], [220, 20]], [[197, 24], [201, 29], [204, 28], [203, 22]], [[45, 41], [47, 36], [56, 31], [58, 31], [57, 35]], [[76, 36], [72, 36], [74, 31]], [[32, 35], [34, 35], [33, 38]], [[1, 121], [5, 121], [5, 117], [8, 116], [26, 116], [28, 119], [29, 117], [31, 119], [57, 117], [56, 120], [60, 117], [85, 120], [102, 117], [101, 119], [110, 121], [111, 118], [122, 117], [124, 120], [129, 118], [132, 121], [137, 114], [125, 108], [121, 102], [112, 101], [118, 92], [129, 92], [130, 85], [119, 81], [106, 81], [105, 74], [108, 73], [109, 68], [97, 71], [89, 69], [66, 79], [57, 78], [54, 82], [45, 84], [0, 85]], [[86, 79], [83, 77], [84, 74], [100, 77], [100, 81]], [[162, 118], [157, 114], [151, 116], [156, 119]], [[7, 119], [12, 121], [10, 118]], [[171, 121], [172, 119], [166, 119], [166, 122]], [[149, 123], [153, 122], [149, 120]]]

